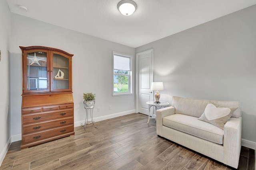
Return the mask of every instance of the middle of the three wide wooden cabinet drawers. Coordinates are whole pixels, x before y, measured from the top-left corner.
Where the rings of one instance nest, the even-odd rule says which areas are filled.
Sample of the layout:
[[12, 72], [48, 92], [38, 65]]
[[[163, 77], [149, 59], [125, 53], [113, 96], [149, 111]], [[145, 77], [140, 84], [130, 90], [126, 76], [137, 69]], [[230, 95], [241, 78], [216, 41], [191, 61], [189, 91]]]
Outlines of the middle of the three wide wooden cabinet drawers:
[[61, 119], [55, 119], [50, 121], [43, 121], [39, 123], [30, 123], [28, 125], [22, 125], [22, 133], [30, 133], [30, 132], [36, 132], [36, 131], [42, 131], [45, 129], [49, 129], [52, 127], [58, 127], [63, 125], [68, 125], [74, 123], [73, 117], [64, 117]]

